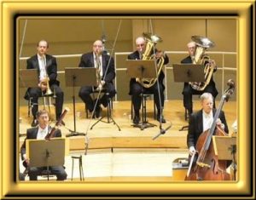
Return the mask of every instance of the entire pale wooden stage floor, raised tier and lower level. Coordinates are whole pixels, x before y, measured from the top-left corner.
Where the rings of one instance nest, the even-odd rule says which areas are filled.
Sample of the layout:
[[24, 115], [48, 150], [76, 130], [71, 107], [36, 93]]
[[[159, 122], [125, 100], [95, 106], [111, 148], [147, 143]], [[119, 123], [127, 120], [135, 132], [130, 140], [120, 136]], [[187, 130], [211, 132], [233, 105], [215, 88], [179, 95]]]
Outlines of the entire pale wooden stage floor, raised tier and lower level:
[[[199, 102], [195, 102], [194, 105], [195, 111], [200, 109]], [[70, 134], [69, 129], [74, 129], [73, 104], [65, 104], [65, 106], [69, 107], [70, 111], [64, 118], [66, 126], [60, 128], [63, 137]], [[231, 125], [236, 120], [236, 102], [229, 101], [224, 105], [223, 110], [232, 134]], [[103, 109], [103, 116], [106, 115], [106, 111], [107, 109]], [[54, 112], [54, 107], [51, 107], [51, 113]], [[162, 129], [172, 127], [155, 140], [153, 137], [160, 133], [160, 123], [154, 120], [152, 100], [147, 101], [147, 112], [148, 122], [156, 126], [144, 130], [134, 128], [131, 126], [131, 101], [113, 101], [113, 119], [119, 125], [120, 131], [115, 124], [102, 122], [90, 129], [92, 124], [96, 123], [96, 119], [86, 118], [84, 104], [76, 104], [76, 130], [86, 134], [87, 137], [66, 137], [70, 150], [65, 157], [67, 181], [71, 181], [73, 155], [83, 157], [84, 181], [183, 180], [186, 170], [173, 177], [172, 169], [173, 160], [188, 157], [186, 146], [188, 131], [179, 131], [188, 124], [184, 119], [183, 102], [181, 100], [165, 102], [164, 116], [167, 122], [162, 124]], [[51, 115], [51, 117], [55, 116]], [[20, 134], [26, 134], [31, 122], [32, 117], [27, 117], [27, 107], [21, 106]], [[19, 138], [20, 145], [24, 139], [24, 136]], [[84, 155], [86, 144], [88, 144], [88, 152]], [[21, 163], [20, 170], [23, 171]], [[78, 160], [74, 163], [73, 173], [73, 180], [79, 181]]]

